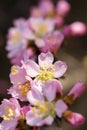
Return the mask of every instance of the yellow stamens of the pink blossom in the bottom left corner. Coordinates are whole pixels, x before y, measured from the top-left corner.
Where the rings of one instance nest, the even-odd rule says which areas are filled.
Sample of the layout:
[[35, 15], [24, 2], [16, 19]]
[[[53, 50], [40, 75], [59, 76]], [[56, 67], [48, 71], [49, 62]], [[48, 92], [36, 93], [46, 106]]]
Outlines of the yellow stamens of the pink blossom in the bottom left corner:
[[5, 115], [3, 115], [2, 118], [7, 121], [13, 120], [14, 110], [9, 107], [5, 107], [4, 110], [5, 110]]

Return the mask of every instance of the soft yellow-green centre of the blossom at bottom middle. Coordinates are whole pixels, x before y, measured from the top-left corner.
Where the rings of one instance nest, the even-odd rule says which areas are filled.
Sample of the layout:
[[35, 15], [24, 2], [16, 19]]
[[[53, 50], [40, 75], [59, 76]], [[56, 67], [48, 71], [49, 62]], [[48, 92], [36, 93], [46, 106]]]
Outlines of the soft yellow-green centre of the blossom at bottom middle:
[[55, 117], [54, 103], [47, 101], [35, 101], [36, 106], [32, 108], [35, 117], [47, 117], [51, 115]]

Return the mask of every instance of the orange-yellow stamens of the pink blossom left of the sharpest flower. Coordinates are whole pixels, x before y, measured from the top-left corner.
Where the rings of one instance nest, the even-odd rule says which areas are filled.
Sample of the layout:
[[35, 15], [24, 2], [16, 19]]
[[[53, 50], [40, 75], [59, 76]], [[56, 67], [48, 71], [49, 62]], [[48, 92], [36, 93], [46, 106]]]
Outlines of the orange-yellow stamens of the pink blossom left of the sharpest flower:
[[18, 85], [18, 90], [22, 96], [26, 96], [27, 92], [31, 89], [30, 82], [25, 82], [23, 85]]

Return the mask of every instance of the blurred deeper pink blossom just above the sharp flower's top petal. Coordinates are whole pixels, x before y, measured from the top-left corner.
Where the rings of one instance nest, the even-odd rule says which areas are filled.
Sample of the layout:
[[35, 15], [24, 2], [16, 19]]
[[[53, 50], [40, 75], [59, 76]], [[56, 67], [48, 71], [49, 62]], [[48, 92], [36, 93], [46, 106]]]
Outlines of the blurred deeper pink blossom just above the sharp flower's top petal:
[[44, 37], [44, 45], [41, 48], [42, 52], [53, 52], [55, 53], [60, 48], [63, 42], [63, 34], [59, 31], [51, 32]]

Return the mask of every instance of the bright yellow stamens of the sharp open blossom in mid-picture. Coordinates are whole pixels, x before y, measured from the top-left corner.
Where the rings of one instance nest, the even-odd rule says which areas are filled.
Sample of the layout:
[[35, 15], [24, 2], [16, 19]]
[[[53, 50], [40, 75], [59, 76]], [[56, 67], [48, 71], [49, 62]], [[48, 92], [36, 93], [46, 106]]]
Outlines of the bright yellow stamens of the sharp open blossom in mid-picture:
[[50, 69], [44, 70], [41, 68], [37, 76], [37, 79], [41, 81], [47, 81], [47, 80], [52, 80], [53, 77], [54, 77], [54, 73]]

